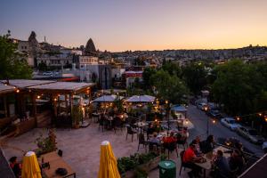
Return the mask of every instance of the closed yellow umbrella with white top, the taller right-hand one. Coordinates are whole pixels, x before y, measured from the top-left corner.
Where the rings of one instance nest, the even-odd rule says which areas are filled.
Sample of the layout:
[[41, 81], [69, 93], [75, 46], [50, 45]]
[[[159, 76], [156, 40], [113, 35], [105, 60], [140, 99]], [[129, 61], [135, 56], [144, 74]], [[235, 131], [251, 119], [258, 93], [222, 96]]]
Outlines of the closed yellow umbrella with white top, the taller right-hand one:
[[101, 159], [98, 178], [120, 178], [117, 159], [108, 141], [101, 142]]

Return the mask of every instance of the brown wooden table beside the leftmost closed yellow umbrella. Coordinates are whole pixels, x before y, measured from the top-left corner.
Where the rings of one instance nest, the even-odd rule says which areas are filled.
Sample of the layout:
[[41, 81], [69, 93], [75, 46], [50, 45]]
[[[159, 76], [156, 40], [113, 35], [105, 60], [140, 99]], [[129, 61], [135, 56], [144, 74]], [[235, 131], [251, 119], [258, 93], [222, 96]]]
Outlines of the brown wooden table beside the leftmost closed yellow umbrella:
[[[44, 173], [44, 176], [47, 178], [64, 178], [72, 176], [76, 177], [76, 173], [72, 170], [72, 168], [66, 163], [58, 154], [56, 151], [46, 153], [44, 155], [41, 155], [40, 158], [38, 158], [38, 162], [41, 165], [42, 159], [44, 159], [44, 163], [49, 162], [50, 168], [45, 167], [42, 169], [42, 172]], [[55, 171], [58, 168], [65, 168], [68, 171], [68, 174], [66, 175], [59, 175], [56, 174]]]

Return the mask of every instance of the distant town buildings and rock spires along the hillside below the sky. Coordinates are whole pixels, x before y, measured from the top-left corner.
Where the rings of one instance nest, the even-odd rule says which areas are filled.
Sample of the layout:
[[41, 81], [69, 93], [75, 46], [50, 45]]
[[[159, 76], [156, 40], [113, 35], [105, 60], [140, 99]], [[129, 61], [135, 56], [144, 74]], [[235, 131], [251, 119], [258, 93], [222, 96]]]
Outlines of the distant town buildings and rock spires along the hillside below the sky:
[[[28, 58], [28, 64], [38, 71], [56, 70], [61, 77], [78, 77], [83, 82], [94, 82], [103, 89], [131, 86], [138, 78], [142, 81], [145, 68], [159, 68], [163, 61], [174, 61], [184, 66], [191, 61], [215, 61], [222, 63], [232, 58], [244, 62], [267, 60], [266, 46], [252, 46], [222, 50], [164, 50], [164, 51], [126, 51], [121, 53], [101, 52], [96, 49], [93, 39], [78, 48], [68, 48], [38, 43], [36, 33], [31, 32], [28, 41], [12, 39], [18, 43], [18, 50]], [[47, 77], [47, 76], [46, 76]], [[51, 76], [48, 76], [51, 77]]]

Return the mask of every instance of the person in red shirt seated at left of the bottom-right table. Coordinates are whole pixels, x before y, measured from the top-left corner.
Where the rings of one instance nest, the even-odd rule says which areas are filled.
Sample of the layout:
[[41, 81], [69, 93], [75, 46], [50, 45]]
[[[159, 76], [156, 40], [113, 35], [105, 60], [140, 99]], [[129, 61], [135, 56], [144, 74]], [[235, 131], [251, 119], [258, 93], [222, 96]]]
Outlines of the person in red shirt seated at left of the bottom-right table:
[[192, 171], [188, 173], [190, 177], [193, 176], [198, 177], [201, 171], [201, 167], [197, 166], [194, 163], [200, 161], [202, 157], [197, 157], [195, 151], [196, 151], [196, 145], [190, 143], [190, 147], [184, 151], [182, 158], [184, 166], [192, 169]]

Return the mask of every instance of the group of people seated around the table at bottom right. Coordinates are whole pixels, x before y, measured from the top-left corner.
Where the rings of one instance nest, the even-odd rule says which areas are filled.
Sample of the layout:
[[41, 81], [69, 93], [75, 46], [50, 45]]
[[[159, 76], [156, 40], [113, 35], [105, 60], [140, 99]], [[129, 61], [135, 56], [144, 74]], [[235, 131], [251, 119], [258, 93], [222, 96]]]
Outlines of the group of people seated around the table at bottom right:
[[196, 137], [183, 153], [182, 166], [191, 169], [188, 173], [190, 178], [200, 177], [203, 168], [204, 174], [206, 174], [206, 169], [202, 164], [204, 165], [207, 161], [210, 161], [211, 164], [211, 176], [228, 178], [235, 177], [243, 171], [247, 158], [241, 143], [234, 150], [228, 150], [224, 147], [215, 149], [213, 135], [207, 136], [206, 141], [202, 142], [199, 137]]

